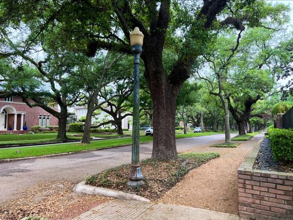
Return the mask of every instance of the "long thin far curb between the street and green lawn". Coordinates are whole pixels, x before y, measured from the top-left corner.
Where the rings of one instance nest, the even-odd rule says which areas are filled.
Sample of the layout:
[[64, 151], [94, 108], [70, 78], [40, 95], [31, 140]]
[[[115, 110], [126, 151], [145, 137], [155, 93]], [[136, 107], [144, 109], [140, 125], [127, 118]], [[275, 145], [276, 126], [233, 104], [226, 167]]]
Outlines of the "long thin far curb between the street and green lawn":
[[[152, 141], [146, 141], [146, 142], [141, 142], [141, 143], [150, 143], [150, 142], [152, 142]], [[50, 155], [42, 155], [42, 156], [27, 157], [27, 158], [1, 159], [0, 163], [6, 163], [6, 162], [12, 162], [12, 161], [18, 161], [18, 160], [30, 160], [30, 159], [39, 159], [39, 158], [59, 157], [59, 156], [65, 156], [65, 155], [71, 155], [71, 154], [80, 154], [80, 153], [85, 153], [85, 152], [90, 152], [90, 151], [97, 151], [97, 150], [110, 149], [110, 148], [116, 148], [116, 147], [124, 147], [124, 146], [129, 146], [129, 145], [131, 145], [131, 143], [117, 145], [117, 146], [113, 146], [113, 147], [102, 147], [102, 148], [88, 149], [88, 150], [61, 153], [61, 154], [50, 154]]]

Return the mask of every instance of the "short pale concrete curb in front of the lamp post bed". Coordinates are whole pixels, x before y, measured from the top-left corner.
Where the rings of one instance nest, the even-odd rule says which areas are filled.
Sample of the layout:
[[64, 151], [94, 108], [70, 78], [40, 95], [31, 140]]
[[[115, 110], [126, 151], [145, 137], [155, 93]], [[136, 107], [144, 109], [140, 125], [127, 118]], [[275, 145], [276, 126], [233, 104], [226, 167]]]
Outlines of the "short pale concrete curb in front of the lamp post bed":
[[102, 187], [96, 187], [96, 186], [90, 186], [86, 185], [85, 181], [79, 182], [73, 189], [74, 192], [89, 194], [89, 195], [100, 195], [100, 196], [107, 196], [107, 197], [114, 197], [117, 199], [122, 200], [137, 200], [137, 201], [145, 201], [150, 202], [150, 200], [135, 195], [131, 193], [125, 193], [122, 191], [112, 190], [112, 189], [106, 189]]

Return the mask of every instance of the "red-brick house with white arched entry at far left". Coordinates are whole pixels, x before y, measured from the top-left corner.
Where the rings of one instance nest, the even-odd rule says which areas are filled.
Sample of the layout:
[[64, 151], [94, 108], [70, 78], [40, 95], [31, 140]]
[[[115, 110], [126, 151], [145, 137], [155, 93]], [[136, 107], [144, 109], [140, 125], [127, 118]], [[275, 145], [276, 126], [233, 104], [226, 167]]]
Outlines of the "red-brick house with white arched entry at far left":
[[[31, 101], [31, 100], [30, 100]], [[32, 101], [31, 101], [32, 102]], [[58, 111], [58, 107], [54, 107]], [[57, 126], [58, 119], [43, 110], [41, 107], [30, 108], [22, 101], [21, 97], [11, 96], [0, 98], [0, 133], [23, 133], [23, 125], [26, 122], [30, 130], [31, 126]]]

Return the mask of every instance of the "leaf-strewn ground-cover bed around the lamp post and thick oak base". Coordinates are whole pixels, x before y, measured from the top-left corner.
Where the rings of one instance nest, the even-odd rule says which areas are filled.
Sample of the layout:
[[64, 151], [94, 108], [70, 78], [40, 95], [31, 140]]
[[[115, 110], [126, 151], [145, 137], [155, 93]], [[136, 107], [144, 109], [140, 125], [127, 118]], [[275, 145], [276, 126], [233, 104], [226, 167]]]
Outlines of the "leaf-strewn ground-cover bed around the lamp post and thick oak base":
[[108, 169], [86, 180], [86, 184], [135, 193], [150, 200], [157, 200], [179, 182], [188, 170], [219, 157], [217, 153], [188, 153], [179, 160], [164, 161], [147, 159], [141, 162], [145, 185], [138, 189], [127, 186], [130, 164]]

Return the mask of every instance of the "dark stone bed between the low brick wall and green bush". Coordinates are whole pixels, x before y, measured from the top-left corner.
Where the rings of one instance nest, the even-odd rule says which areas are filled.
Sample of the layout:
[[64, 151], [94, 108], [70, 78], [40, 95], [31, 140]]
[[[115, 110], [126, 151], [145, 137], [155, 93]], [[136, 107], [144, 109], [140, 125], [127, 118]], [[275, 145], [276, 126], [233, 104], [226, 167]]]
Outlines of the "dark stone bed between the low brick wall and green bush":
[[265, 138], [261, 142], [253, 169], [293, 173], [293, 163], [288, 164], [273, 160], [270, 142], [269, 138]]

